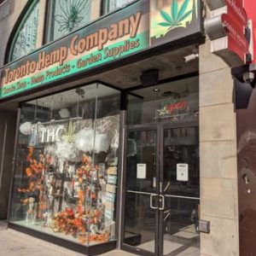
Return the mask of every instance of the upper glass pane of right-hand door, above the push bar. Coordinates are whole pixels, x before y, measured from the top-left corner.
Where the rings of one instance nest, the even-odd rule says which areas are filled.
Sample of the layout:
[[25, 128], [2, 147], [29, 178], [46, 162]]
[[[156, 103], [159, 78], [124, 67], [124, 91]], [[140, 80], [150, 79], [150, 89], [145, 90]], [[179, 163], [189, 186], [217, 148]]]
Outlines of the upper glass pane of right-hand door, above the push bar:
[[[164, 130], [163, 166], [166, 194], [200, 196], [198, 142], [198, 127]], [[186, 166], [187, 173], [181, 173], [184, 178], [177, 177], [178, 164]]]

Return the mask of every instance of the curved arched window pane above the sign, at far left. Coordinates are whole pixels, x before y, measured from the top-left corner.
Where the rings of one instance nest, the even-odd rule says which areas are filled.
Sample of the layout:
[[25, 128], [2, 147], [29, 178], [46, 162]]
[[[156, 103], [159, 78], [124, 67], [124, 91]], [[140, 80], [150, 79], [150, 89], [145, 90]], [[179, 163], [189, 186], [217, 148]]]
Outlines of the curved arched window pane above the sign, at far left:
[[11, 44], [9, 61], [15, 61], [37, 48], [38, 13], [39, 1], [34, 1], [15, 33], [14, 41]]

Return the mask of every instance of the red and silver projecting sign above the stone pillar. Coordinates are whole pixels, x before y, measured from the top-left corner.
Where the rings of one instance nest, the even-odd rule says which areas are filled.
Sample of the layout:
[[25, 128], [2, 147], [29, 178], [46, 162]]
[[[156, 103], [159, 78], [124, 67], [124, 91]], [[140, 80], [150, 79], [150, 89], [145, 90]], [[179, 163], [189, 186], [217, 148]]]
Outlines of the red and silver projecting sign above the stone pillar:
[[212, 53], [220, 56], [230, 67], [246, 64], [249, 44], [245, 37], [247, 15], [241, 1], [207, 0], [212, 18], [205, 22], [212, 40]]

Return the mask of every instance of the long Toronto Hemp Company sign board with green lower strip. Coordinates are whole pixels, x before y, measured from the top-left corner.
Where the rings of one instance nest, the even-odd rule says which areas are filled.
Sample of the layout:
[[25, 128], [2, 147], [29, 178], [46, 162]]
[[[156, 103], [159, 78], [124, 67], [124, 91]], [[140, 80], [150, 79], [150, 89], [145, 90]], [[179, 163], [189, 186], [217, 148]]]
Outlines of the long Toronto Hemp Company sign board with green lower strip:
[[0, 99], [198, 33], [199, 3], [139, 0], [104, 16], [3, 67]]

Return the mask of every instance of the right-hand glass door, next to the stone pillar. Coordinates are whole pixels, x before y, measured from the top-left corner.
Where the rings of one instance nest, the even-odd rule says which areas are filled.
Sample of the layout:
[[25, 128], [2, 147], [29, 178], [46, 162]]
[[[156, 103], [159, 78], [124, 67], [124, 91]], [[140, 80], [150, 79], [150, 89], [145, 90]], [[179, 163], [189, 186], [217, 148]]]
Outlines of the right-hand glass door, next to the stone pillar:
[[200, 255], [198, 126], [161, 129], [160, 255]]

